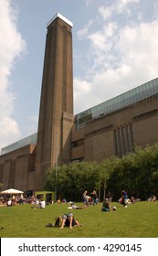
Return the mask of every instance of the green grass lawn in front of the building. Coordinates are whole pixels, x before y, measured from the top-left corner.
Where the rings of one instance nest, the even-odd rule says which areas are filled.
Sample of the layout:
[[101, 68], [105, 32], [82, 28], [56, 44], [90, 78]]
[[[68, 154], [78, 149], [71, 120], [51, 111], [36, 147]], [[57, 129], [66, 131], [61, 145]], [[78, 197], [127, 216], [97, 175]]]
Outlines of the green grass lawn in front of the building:
[[[77, 204], [80, 205], [80, 204]], [[138, 202], [117, 210], [102, 212], [101, 204], [87, 209], [69, 210], [68, 205], [48, 205], [45, 209], [17, 205], [0, 208], [1, 238], [158, 238], [158, 205]], [[84, 227], [46, 228], [58, 215], [72, 211]]]

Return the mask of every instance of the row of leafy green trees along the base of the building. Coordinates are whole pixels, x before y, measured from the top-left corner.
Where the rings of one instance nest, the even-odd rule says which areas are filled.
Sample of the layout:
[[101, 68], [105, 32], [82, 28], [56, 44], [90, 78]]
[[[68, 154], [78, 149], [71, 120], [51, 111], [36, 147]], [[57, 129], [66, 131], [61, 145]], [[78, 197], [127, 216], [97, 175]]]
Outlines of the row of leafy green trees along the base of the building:
[[[57, 176], [56, 176], [57, 175]], [[129, 196], [146, 199], [158, 196], [158, 144], [135, 147], [134, 153], [122, 158], [112, 156], [97, 162], [73, 162], [47, 170], [46, 189], [55, 190], [58, 197], [81, 200], [85, 190], [95, 189], [100, 199], [111, 192], [114, 199], [125, 189]]]

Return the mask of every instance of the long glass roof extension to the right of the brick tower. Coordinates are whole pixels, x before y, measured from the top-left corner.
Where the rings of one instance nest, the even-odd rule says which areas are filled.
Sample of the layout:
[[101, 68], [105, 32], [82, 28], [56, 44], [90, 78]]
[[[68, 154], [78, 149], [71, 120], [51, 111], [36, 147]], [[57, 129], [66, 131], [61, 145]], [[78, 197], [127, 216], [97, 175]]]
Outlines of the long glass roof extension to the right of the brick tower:
[[158, 93], [158, 78], [150, 80], [131, 91], [126, 91], [111, 100], [104, 101], [84, 112], [76, 115], [76, 130], [85, 127], [85, 123], [90, 119], [97, 118], [100, 115], [115, 112], [131, 105], [134, 102], [142, 101]]

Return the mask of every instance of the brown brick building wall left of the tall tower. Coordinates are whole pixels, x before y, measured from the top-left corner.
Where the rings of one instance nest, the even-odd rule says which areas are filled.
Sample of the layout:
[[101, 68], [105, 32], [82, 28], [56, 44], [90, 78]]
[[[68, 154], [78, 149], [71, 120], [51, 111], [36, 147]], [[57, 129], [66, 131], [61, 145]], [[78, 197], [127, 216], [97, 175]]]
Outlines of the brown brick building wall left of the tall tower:
[[27, 145], [0, 157], [0, 182], [3, 190], [34, 190], [35, 145]]

